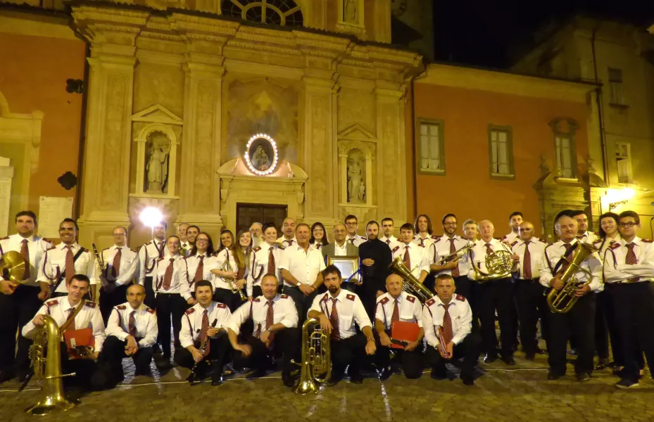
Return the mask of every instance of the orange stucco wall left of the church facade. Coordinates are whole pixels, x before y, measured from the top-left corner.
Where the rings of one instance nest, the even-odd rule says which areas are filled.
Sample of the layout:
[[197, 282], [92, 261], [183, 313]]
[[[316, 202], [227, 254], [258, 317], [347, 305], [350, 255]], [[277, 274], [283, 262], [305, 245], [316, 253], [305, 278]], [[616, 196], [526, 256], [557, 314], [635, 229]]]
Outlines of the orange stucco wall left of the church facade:
[[0, 92], [11, 113], [44, 113], [39, 167], [30, 176], [34, 212], [39, 196], [75, 196], [57, 178], [77, 174], [82, 95], [68, 94], [66, 79], [83, 79], [85, 48], [75, 39], [0, 32]]

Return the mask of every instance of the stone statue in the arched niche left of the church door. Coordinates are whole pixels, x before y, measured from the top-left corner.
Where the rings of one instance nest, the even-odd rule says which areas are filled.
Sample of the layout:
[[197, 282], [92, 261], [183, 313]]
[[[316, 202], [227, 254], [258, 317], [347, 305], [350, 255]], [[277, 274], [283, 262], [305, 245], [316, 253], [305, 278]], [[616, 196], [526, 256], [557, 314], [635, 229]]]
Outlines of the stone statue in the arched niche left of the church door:
[[146, 174], [144, 177], [146, 193], [168, 192], [169, 164], [170, 139], [163, 132], [151, 132], [146, 143]]

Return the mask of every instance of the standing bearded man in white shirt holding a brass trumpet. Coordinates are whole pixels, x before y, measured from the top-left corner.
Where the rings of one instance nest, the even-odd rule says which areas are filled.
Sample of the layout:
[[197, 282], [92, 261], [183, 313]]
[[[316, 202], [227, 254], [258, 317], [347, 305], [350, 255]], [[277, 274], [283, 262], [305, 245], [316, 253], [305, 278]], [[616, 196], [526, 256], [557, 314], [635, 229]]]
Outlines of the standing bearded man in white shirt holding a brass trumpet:
[[[451, 274], [456, 283], [458, 294], [465, 296], [469, 302], [472, 301], [472, 281], [467, 278], [467, 273], [470, 271], [469, 255], [466, 253], [458, 260], [451, 260], [444, 265], [439, 265], [438, 262], [441, 257], [455, 254], [458, 250], [467, 245], [470, 241], [462, 238], [456, 234], [456, 216], [447, 214], [443, 217], [443, 232], [444, 235], [439, 240], [432, 243], [427, 252], [425, 252], [425, 262], [423, 262], [423, 269], [421, 279], [425, 280], [425, 286], [430, 291], [434, 291], [434, 283], [427, 283], [427, 276], [429, 271], [437, 274]], [[427, 268], [429, 267], [429, 268]], [[472, 305], [471, 305], [472, 306]]]

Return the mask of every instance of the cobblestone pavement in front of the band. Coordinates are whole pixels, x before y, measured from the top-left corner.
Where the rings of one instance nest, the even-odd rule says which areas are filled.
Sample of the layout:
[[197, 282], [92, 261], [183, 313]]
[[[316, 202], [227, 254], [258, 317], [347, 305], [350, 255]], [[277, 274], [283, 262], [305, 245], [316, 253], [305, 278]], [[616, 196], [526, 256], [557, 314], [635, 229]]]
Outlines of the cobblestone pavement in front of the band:
[[[118, 388], [94, 392], [65, 414], [42, 421], [654, 421], [654, 381], [649, 374], [639, 388], [618, 390], [609, 369], [596, 371], [588, 383], [568, 376], [546, 381], [546, 357], [527, 362], [516, 354], [517, 365], [482, 364], [476, 385], [459, 379], [434, 381], [425, 371], [418, 380], [396, 374], [363, 385], [343, 381], [313, 396], [298, 396], [284, 388], [279, 372], [246, 380], [235, 376], [219, 387], [184, 380], [189, 371], [175, 368], [153, 378], [134, 378], [130, 370]], [[128, 360], [124, 361], [127, 365]], [[510, 369], [509, 369], [510, 368]], [[0, 421], [27, 421], [36, 416], [23, 409], [39, 398], [36, 383], [18, 393], [17, 381], [1, 385]]]

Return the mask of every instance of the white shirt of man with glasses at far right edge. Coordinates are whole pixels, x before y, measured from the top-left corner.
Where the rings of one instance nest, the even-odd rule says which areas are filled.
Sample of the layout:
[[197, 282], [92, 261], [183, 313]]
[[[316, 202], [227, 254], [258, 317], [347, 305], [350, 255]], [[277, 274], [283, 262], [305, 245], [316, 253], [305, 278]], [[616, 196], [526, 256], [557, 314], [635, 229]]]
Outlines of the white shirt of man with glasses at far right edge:
[[627, 241], [613, 243], [604, 255], [605, 283], [639, 283], [654, 280], [654, 243], [636, 236], [634, 240], [636, 264], [627, 264]]

